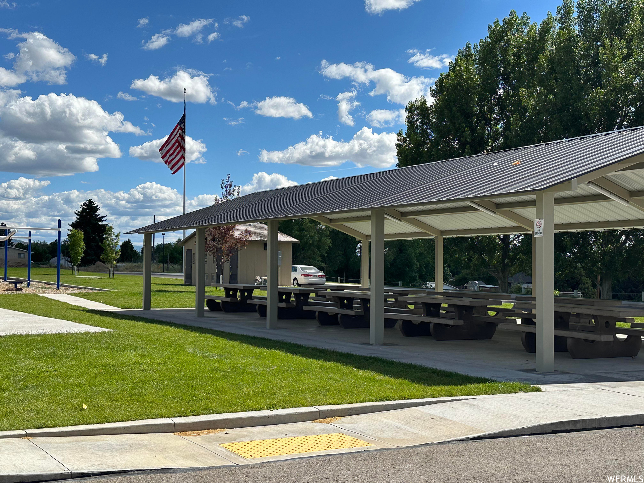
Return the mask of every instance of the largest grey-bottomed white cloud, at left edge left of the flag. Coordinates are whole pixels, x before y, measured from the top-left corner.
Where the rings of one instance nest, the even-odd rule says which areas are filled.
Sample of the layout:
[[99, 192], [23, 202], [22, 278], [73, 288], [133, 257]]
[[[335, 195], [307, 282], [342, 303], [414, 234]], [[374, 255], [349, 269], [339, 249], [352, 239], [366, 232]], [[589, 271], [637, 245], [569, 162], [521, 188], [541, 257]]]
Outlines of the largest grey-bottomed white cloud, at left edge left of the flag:
[[0, 171], [60, 176], [97, 171], [99, 158], [119, 158], [109, 131], [143, 135], [120, 112], [95, 100], [50, 93], [37, 99], [0, 91]]

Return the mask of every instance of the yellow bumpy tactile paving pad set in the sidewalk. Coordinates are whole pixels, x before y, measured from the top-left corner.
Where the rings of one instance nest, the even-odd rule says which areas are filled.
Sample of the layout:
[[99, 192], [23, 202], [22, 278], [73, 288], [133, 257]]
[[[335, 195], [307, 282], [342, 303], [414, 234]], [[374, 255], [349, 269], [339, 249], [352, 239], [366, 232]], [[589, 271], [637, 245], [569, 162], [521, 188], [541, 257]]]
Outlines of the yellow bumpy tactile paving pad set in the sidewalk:
[[343, 433], [295, 436], [290, 438], [258, 439], [220, 444], [223, 448], [246, 458], [295, 455], [312, 451], [341, 450], [374, 446], [366, 441], [347, 436]]

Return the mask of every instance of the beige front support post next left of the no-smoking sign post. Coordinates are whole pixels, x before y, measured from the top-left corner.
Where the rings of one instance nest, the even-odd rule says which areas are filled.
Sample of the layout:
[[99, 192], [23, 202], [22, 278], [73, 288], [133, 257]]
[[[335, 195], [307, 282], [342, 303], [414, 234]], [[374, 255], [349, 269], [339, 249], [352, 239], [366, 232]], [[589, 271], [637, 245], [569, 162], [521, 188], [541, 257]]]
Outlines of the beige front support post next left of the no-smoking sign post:
[[371, 301], [369, 343], [384, 343], [384, 210], [371, 211]]

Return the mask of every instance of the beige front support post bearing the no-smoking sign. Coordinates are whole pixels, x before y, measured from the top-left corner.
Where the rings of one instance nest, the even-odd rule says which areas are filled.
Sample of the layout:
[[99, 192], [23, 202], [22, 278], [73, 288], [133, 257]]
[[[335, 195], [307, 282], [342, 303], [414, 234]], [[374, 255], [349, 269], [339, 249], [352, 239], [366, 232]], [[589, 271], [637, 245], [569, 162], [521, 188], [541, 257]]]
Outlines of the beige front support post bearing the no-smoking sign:
[[554, 193], [536, 193], [536, 371], [554, 372]]

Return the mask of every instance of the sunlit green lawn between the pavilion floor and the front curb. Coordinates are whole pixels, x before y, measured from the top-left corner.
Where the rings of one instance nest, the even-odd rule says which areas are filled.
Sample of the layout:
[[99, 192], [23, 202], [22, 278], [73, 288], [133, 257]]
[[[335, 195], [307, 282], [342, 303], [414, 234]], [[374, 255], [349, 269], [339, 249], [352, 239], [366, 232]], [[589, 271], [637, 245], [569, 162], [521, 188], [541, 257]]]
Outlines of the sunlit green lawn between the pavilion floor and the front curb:
[[539, 390], [35, 294], [0, 295], [0, 307], [114, 329], [0, 337], [0, 430]]

